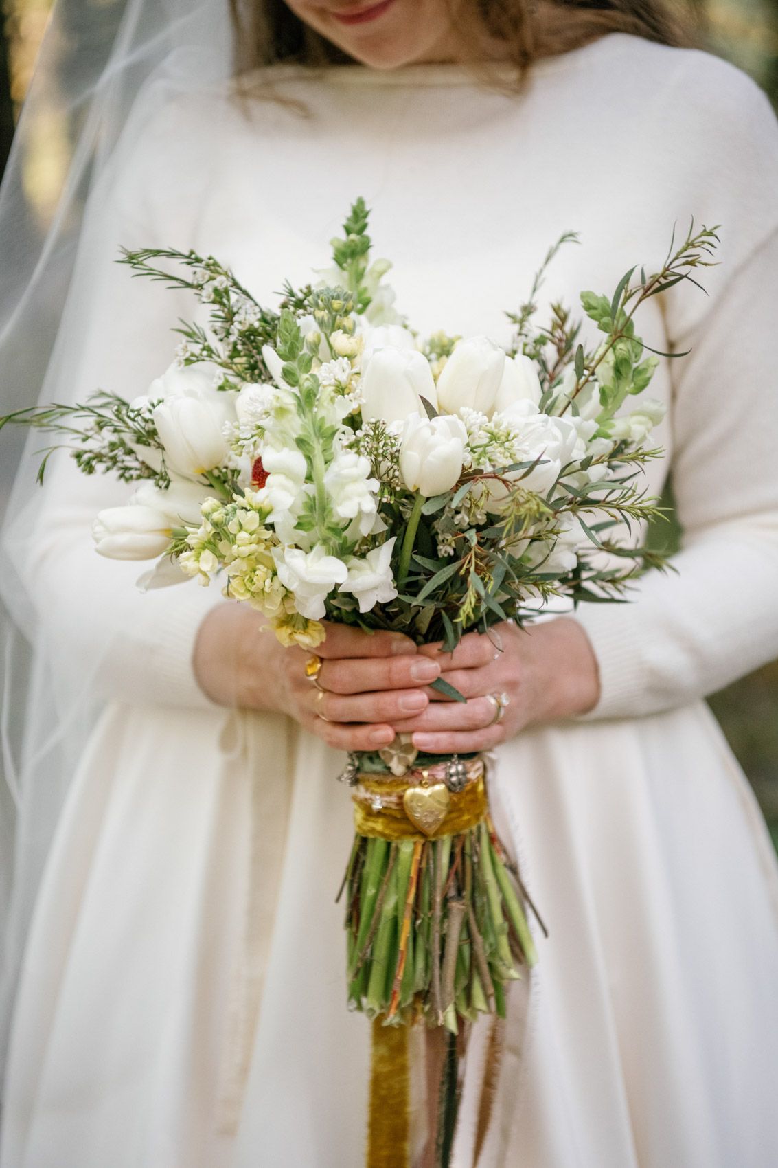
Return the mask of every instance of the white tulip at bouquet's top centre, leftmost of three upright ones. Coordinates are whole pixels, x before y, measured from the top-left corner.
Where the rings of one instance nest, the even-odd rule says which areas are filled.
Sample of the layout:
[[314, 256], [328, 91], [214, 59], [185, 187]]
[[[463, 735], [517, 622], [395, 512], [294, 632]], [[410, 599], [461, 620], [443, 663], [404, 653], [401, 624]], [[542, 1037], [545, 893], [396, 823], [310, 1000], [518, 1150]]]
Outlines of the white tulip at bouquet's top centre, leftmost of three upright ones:
[[419, 398], [437, 408], [435, 378], [430, 362], [415, 349], [387, 347], [373, 354], [360, 383], [362, 418], [373, 422], [404, 422], [424, 410]]

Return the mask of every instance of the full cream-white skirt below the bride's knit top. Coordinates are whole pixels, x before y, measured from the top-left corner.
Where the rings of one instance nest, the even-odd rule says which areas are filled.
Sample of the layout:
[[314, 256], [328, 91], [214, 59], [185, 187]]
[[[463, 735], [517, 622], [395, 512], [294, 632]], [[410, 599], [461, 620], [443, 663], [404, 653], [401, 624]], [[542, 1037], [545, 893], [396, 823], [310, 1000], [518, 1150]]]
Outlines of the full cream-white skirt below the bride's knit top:
[[[109, 708], [39, 897], [0, 1168], [359, 1168], [341, 765], [275, 715]], [[527, 730], [489, 795], [548, 937], [479, 1168], [774, 1168], [778, 863], [707, 707]]]

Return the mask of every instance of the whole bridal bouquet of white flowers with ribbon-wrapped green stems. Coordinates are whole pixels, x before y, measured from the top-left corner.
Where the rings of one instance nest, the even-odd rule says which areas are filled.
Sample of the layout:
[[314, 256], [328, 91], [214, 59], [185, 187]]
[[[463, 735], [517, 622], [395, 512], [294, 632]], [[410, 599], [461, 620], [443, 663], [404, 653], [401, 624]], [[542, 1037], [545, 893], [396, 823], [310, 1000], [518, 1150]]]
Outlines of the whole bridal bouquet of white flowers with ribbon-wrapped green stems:
[[[144, 586], [218, 578], [284, 645], [312, 653], [325, 619], [451, 651], [553, 598], [624, 599], [646, 564], [661, 566], [624, 538], [657, 513], [638, 474], [660, 453], [646, 443], [661, 408], [642, 396], [658, 356], [634, 315], [710, 262], [715, 232], [690, 229], [659, 272], [633, 267], [611, 296], [583, 292], [591, 346], [563, 305], [537, 320], [546, 266], [575, 238], [562, 236], [500, 348], [421, 338], [395, 310], [390, 264], [371, 260], [367, 228], [357, 200], [333, 266], [286, 285], [278, 311], [211, 256], [125, 252], [137, 274], [189, 288], [202, 306], [179, 329], [174, 363], [133, 401], [102, 391], [0, 424], [61, 433], [84, 473], [138, 484], [126, 506], [97, 516], [95, 538], [105, 556], [158, 558]], [[464, 701], [445, 681], [435, 688]], [[423, 1020], [451, 1036], [440, 1164], [454, 1036], [479, 1014], [505, 1015], [509, 982], [536, 960], [534, 906], [494, 833], [485, 772], [480, 756], [419, 756], [403, 736], [349, 756], [342, 776], [356, 827], [341, 889], [348, 1000], [376, 1021], [385, 1065], [398, 1065], [393, 1030]], [[375, 1099], [387, 1098], [376, 1091], [375, 1146]], [[374, 1160], [390, 1162], [375, 1148]]]

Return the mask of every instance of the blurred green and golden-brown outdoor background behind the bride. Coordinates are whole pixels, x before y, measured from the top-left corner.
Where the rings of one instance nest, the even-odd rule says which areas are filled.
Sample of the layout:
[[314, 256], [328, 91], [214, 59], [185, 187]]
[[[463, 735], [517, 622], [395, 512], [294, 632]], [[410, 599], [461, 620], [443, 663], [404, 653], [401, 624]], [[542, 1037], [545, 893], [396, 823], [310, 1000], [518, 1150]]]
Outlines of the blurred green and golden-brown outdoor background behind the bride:
[[[751, 74], [778, 107], [778, 0], [688, 2], [701, 47]], [[84, 0], [79, 19], [99, 21], [111, 4]], [[51, 0], [0, 0], [0, 173], [50, 8]], [[71, 32], [77, 40], [77, 30]], [[25, 174], [30, 210], [41, 225], [61, 190], [67, 133], [67, 124], [50, 105], [35, 127]], [[654, 533], [657, 544], [672, 545], [678, 538], [678, 530], [667, 524]], [[756, 791], [778, 847], [778, 661], [714, 695], [710, 705]]]

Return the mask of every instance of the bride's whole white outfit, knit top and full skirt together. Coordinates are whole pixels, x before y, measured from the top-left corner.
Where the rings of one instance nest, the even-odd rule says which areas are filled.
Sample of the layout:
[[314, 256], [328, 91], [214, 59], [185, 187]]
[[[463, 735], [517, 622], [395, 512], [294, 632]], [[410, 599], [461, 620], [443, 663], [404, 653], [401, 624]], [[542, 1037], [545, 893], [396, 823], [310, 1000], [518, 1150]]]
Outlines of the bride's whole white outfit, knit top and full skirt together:
[[[542, 301], [661, 265], [673, 223], [722, 224], [721, 265], [648, 301], [668, 404], [678, 575], [579, 619], [603, 695], [498, 751], [499, 828], [549, 929], [480, 1168], [778, 1163], [778, 864], [702, 696], [778, 652], [778, 132], [742, 74], [625, 35], [541, 64], [509, 98], [465, 70], [282, 71], [289, 103], [159, 111], [121, 176], [74, 396], [132, 397], [192, 305], [111, 263], [194, 246], [265, 301], [327, 264], [362, 194], [416, 327], [506, 340]], [[273, 301], [275, 303], [275, 301]], [[575, 303], [574, 303], [575, 307]], [[56, 488], [56, 489], [55, 489]], [[334, 903], [342, 759], [282, 717], [217, 708], [192, 673], [215, 588], [141, 595], [95, 555], [127, 488], [54, 468], [30, 564], [53, 638], [112, 641], [18, 997], [1, 1168], [359, 1168], [369, 1026], [346, 1009]], [[268, 686], [273, 677], [268, 677]], [[472, 1164], [475, 1028], [454, 1163]]]

